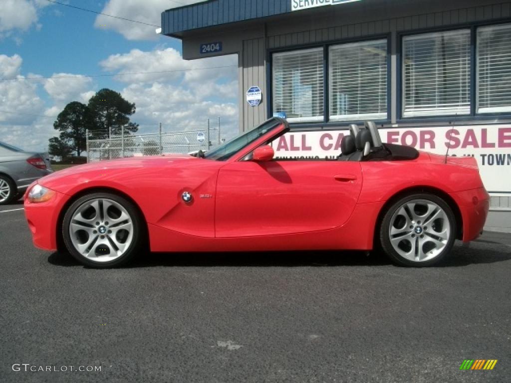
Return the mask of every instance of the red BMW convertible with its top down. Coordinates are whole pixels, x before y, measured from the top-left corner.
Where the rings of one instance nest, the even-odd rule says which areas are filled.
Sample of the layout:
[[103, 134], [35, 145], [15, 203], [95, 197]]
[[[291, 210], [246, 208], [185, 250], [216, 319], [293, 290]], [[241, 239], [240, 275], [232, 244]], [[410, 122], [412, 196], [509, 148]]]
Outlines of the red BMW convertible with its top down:
[[271, 118], [207, 153], [102, 161], [25, 194], [36, 247], [110, 268], [137, 254], [381, 248], [431, 266], [474, 240], [489, 210], [477, 162], [382, 143], [350, 126], [337, 160], [281, 160]]

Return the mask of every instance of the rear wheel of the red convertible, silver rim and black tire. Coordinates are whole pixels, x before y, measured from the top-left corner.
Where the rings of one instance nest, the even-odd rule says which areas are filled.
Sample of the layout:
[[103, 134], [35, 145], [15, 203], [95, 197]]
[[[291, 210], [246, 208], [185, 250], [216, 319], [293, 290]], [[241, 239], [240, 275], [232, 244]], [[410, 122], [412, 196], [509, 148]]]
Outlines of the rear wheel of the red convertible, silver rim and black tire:
[[380, 227], [380, 243], [399, 265], [436, 264], [452, 249], [456, 220], [452, 209], [433, 194], [414, 194], [393, 203]]

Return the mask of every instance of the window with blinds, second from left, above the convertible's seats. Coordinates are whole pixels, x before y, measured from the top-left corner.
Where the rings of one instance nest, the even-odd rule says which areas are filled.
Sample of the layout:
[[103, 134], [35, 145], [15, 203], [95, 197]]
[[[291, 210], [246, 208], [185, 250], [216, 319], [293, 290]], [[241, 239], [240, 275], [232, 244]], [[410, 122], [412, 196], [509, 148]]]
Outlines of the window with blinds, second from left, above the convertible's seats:
[[329, 48], [330, 120], [387, 118], [387, 40]]

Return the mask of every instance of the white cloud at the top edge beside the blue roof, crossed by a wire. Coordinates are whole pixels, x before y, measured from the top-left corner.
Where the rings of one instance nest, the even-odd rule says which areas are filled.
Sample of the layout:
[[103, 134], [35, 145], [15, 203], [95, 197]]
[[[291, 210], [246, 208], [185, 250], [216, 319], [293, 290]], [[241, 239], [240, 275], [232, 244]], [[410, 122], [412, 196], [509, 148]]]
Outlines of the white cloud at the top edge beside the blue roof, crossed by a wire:
[[99, 15], [94, 26], [98, 29], [111, 29], [121, 33], [128, 40], [154, 40], [158, 37], [155, 30], [161, 26], [161, 12], [198, 3], [197, 0], [109, 0], [102, 13], [131, 20], [142, 21], [149, 25]]

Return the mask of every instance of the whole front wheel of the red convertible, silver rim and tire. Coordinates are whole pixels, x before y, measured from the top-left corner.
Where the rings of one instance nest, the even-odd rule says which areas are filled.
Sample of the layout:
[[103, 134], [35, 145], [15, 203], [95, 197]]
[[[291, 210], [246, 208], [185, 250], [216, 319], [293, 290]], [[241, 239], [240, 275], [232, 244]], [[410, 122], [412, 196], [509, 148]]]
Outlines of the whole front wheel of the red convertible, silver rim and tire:
[[110, 193], [94, 193], [67, 209], [62, 236], [82, 264], [111, 268], [126, 264], [142, 243], [142, 218], [131, 202]]

